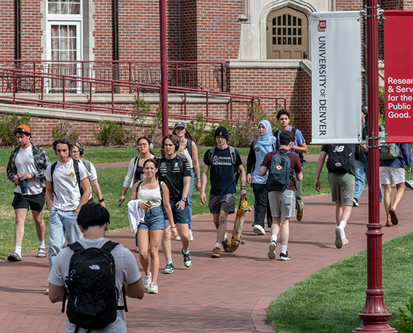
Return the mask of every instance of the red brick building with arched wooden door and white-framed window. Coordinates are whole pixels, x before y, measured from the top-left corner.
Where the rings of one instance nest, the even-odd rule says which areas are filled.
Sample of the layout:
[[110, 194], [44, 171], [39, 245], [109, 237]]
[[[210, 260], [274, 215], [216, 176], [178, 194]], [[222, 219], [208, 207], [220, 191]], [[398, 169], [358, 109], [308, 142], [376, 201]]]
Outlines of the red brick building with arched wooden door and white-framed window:
[[[379, 2], [384, 9], [413, 6], [413, 0]], [[167, 0], [168, 61], [225, 63], [222, 90], [285, 97], [295, 126], [310, 141], [310, 14], [364, 6], [365, 0]], [[160, 60], [156, 0], [3, 0], [0, 17], [0, 59]], [[171, 106], [172, 113], [183, 113], [182, 101]], [[222, 115], [220, 108], [215, 104], [211, 115]], [[193, 110], [196, 113], [197, 106]], [[0, 109], [6, 111], [13, 112], [10, 107]], [[76, 118], [76, 112], [30, 112], [31, 125], [38, 127], [34, 132], [43, 128], [41, 124], [48, 124], [44, 128], [49, 131], [59, 118], [66, 118], [84, 129], [80, 139], [92, 142], [92, 130], [97, 128], [96, 120]], [[227, 117], [242, 118], [245, 108], [225, 112]], [[48, 134], [43, 137], [47, 140]]]

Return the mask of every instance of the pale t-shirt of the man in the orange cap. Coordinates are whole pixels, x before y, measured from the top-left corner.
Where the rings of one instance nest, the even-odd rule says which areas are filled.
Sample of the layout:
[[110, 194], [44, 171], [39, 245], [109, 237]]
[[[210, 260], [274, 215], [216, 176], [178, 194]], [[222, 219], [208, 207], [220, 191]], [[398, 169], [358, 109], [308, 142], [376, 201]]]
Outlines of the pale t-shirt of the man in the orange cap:
[[[15, 158], [15, 166], [18, 170], [18, 174], [23, 172], [36, 173], [38, 171], [36, 163], [33, 157], [33, 147], [30, 145], [26, 149], [20, 148]], [[40, 194], [43, 191], [41, 180], [39, 179], [27, 179], [27, 194], [35, 195]], [[22, 193], [20, 185], [17, 185], [14, 190], [15, 193]]]

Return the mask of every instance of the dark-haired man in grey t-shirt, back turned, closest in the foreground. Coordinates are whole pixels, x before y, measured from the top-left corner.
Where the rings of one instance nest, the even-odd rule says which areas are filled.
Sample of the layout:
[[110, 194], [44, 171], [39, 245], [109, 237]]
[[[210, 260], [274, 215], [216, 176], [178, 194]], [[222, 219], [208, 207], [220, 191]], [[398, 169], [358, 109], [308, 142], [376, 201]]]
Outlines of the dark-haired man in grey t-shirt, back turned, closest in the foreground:
[[[78, 214], [78, 224], [85, 238], [79, 241], [83, 248], [102, 248], [108, 239], [104, 238], [110, 222], [110, 215], [106, 208], [98, 204], [85, 204]], [[144, 297], [144, 283], [139, 272], [137, 261], [134, 255], [124, 246], [118, 244], [111, 251], [115, 260], [116, 288], [121, 295], [122, 287], [125, 283], [127, 297], [142, 299]], [[65, 278], [69, 276], [69, 264], [73, 250], [64, 248], [55, 259], [55, 264], [50, 271], [49, 299], [50, 302], [61, 302], [66, 288]], [[118, 299], [118, 306], [123, 306], [123, 297]], [[66, 320], [66, 332], [73, 333], [76, 325]], [[85, 333], [87, 330], [79, 328], [78, 333]], [[92, 330], [94, 332], [94, 330]], [[104, 329], [96, 331], [102, 333], [126, 333], [125, 310], [117, 312], [116, 320]]]

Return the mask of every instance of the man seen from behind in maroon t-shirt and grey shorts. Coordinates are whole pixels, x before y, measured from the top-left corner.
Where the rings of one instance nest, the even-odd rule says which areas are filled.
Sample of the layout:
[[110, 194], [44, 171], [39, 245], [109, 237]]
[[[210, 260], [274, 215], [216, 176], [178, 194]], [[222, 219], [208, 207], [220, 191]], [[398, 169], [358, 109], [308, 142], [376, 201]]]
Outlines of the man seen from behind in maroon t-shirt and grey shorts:
[[281, 253], [279, 258], [280, 260], [290, 260], [291, 257], [288, 255], [287, 247], [290, 238], [290, 218], [295, 213], [293, 176], [295, 175], [295, 178], [301, 182], [302, 167], [300, 157], [297, 154], [290, 153], [295, 145], [293, 132], [282, 132], [279, 141], [281, 145], [279, 150], [267, 153], [260, 167], [260, 176], [269, 173], [267, 187], [272, 227], [267, 255], [269, 259], [275, 259], [276, 241], [281, 231]]

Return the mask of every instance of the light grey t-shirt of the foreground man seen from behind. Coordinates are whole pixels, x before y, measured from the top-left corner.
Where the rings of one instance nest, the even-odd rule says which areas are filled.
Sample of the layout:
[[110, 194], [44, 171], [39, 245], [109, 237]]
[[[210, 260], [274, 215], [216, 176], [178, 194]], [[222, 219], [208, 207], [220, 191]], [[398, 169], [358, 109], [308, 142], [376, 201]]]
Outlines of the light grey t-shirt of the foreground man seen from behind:
[[[104, 243], [108, 239], [98, 238], [98, 239], [80, 239], [79, 243], [84, 248], [102, 248]], [[116, 287], [119, 292], [122, 292], [123, 283], [128, 285], [135, 283], [141, 278], [141, 273], [139, 272], [137, 260], [134, 255], [127, 250], [125, 246], [118, 245], [112, 250], [113, 259], [116, 265]], [[62, 286], [64, 285], [64, 280], [66, 276], [69, 275], [69, 264], [70, 258], [73, 255], [73, 250], [66, 247], [60, 251], [55, 257], [53, 262], [52, 270], [50, 271], [48, 282], [53, 285]], [[121, 295], [121, 294], [120, 294]], [[123, 297], [119, 297], [118, 306], [123, 306]], [[75, 332], [76, 326], [66, 320], [66, 333]], [[85, 333], [87, 330], [79, 328], [79, 333]], [[114, 323], [109, 324], [103, 330], [93, 330], [96, 333], [126, 333], [126, 318], [125, 311], [118, 310], [118, 316]]]

